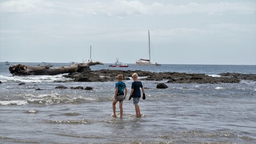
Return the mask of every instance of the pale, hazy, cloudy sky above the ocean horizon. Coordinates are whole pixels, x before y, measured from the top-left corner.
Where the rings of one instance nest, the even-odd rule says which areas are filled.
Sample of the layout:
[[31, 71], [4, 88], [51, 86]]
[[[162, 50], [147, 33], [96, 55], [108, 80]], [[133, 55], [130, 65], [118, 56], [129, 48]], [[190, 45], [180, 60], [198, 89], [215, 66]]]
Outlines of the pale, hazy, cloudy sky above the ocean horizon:
[[0, 0], [0, 62], [256, 65], [255, 0]]

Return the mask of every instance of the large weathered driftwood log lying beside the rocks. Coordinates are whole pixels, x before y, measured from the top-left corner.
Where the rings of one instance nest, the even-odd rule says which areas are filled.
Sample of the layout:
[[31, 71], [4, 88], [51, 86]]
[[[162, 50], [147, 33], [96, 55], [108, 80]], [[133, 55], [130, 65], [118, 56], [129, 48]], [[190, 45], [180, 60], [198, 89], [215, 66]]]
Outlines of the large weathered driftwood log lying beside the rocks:
[[48, 66], [25, 66], [23, 64], [14, 64], [9, 67], [10, 73], [17, 76], [40, 76], [40, 75], [59, 75], [62, 73], [71, 73], [71, 72], [81, 72], [90, 66], [97, 64], [103, 64], [102, 62], [92, 62], [92, 59], [89, 59], [87, 63], [75, 63], [71, 66], [63, 67], [48, 67]]

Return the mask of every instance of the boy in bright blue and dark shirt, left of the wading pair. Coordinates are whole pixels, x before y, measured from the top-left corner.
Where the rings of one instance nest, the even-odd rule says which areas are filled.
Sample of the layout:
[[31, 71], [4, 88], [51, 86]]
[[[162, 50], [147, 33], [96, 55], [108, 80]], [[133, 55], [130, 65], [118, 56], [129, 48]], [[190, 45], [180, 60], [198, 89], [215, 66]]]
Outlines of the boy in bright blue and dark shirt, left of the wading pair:
[[[115, 88], [115, 97], [112, 103], [113, 107], [113, 117], [116, 117], [116, 103], [119, 101], [119, 108], [120, 108], [120, 118], [122, 118], [122, 103], [126, 98], [127, 95], [127, 88], [124, 82], [122, 82], [122, 75], [117, 76], [116, 88]], [[124, 93], [125, 90], [125, 93]]]

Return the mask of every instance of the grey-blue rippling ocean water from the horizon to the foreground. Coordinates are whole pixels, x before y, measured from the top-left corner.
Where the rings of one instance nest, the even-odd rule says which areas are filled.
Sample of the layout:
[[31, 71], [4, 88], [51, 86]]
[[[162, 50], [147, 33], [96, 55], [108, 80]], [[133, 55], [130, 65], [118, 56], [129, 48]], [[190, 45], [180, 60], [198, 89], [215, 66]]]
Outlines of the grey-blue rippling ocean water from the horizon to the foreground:
[[[9, 66], [12, 64], [18, 63]], [[70, 65], [52, 64], [53, 67]], [[132, 100], [126, 98], [123, 118], [113, 118], [115, 82], [67, 82], [62, 75], [12, 76], [9, 66], [0, 63], [0, 143], [256, 143], [255, 81], [220, 84], [142, 81], [146, 87], [146, 100], [139, 102], [142, 117], [136, 117]], [[223, 72], [256, 73], [256, 66], [237, 65], [130, 64], [127, 68], [115, 68], [104, 64], [90, 68], [210, 76]], [[18, 85], [21, 82], [25, 84]], [[129, 95], [132, 80], [124, 82]], [[169, 88], [157, 89], [159, 82]], [[60, 85], [68, 88], [55, 88]], [[93, 90], [70, 89], [76, 86], [90, 86]], [[116, 107], [119, 113], [119, 103]]]

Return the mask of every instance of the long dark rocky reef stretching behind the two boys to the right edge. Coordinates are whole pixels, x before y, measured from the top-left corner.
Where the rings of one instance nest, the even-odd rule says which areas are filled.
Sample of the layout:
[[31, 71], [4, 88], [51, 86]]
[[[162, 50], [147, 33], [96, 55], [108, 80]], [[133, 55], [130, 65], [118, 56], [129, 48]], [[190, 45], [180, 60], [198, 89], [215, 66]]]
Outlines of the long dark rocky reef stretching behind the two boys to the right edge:
[[106, 82], [116, 81], [117, 75], [124, 75], [124, 80], [130, 80], [129, 77], [133, 73], [137, 73], [140, 80], [147, 81], [162, 81], [167, 80], [168, 83], [239, 83], [240, 80], [256, 81], [256, 74], [241, 74], [241, 73], [220, 73], [220, 77], [211, 77], [204, 73], [179, 73], [179, 72], [149, 72], [149, 71], [122, 71], [101, 69], [98, 71], [73, 72], [64, 75], [66, 78], [72, 78], [76, 82]]

